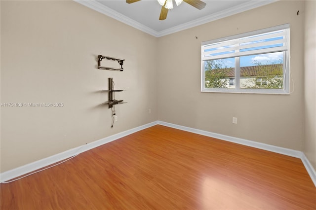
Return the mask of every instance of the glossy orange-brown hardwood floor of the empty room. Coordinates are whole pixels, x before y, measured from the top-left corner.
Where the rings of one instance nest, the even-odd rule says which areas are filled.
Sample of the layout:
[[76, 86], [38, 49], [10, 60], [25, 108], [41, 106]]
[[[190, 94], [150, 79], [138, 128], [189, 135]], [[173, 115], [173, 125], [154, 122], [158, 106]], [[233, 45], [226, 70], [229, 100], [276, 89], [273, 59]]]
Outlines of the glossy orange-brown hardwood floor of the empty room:
[[1, 210], [315, 210], [298, 158], [161, 125], [1, 183]]

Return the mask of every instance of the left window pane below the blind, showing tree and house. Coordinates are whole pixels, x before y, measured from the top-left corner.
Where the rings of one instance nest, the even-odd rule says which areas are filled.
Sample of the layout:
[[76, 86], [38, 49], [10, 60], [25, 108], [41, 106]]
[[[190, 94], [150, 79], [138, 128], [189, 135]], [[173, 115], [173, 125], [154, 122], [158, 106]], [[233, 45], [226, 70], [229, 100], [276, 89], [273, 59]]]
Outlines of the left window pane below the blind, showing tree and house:
[[204, 61], [204, 88], [235, 88], [235, 58]]

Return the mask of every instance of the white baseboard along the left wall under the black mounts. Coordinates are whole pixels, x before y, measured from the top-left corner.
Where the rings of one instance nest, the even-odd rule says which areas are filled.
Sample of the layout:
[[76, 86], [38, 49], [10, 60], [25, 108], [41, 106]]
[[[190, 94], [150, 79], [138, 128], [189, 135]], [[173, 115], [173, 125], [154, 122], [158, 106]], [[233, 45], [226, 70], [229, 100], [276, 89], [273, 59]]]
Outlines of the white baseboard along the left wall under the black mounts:
[[65, 160], [67, 158], [70, 158], [72, 156], [78, 155], [79, 153], [82, 153], [82, 152], [85, 152], [87, 150], [90, 150], [90, 149], [93, 149], [95, 147], [98, 147], [98, 146], [100, 146], [102, 144], [105, 144], [105, 143], [108, 143], [108, 142], [111, 142], [111, 141], [114, 141], [114, 140], [118, 140], [118, 139], [120, 139], [122, 137], [130, 135], [130, 134], [135, 133], [137, 131], [141, 131], [143, 129], [152, 127], [154, 125], [157, 125], [157, 123], [158, 123], [157, 121], [152, 122], [152, 123], [148, 123], [146, 125], [142, 125], [142, 126], [139, 126], [137, 128], [133, 128], [133, 129], [130, 129], [130, 130], [127, 130], [127, 131], [123, 131], [121, 133], [112, 135], [110, 137], [106, 137], [106, 138], [101, 139], [101, 140], [96, 140], [96, 141], [93, 141], [93, 142], [90, 142], [90, 143], [78, 146], [76, 148], [69, 149], [67, 151], [64, 151], [64, 152], [52, 155], [50, 157], [43, 158], [43, 159], [35, 161], [33, 163], [29, 163], [29, 164], [26, 164], [24, 166], [21, 166], [21, 167], [18, 167], [18, 168], [15, 168], [15, 169], [3, 172], [3, 173], [0, 174], [0, 182], [5, 182], [7, 180], [16, 178], [18, 176], [25, 175], [25, 174], [28, 174], [30, 172], [34, 172], [34, 171], [39, 170], [41, 168], [47, 167], [47, 166], [49, 166], [51, 164], [54, 164], [54, 163], [57, 163], [59, 161]]

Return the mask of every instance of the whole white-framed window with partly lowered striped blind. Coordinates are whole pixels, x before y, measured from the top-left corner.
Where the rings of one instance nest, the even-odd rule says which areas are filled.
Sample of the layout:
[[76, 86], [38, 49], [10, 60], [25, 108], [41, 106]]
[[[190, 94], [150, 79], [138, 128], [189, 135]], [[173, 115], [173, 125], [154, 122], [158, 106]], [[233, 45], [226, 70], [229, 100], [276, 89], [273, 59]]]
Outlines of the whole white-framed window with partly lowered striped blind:
[[289, 24], [202, 42], [202, 92], [289, 93]]

